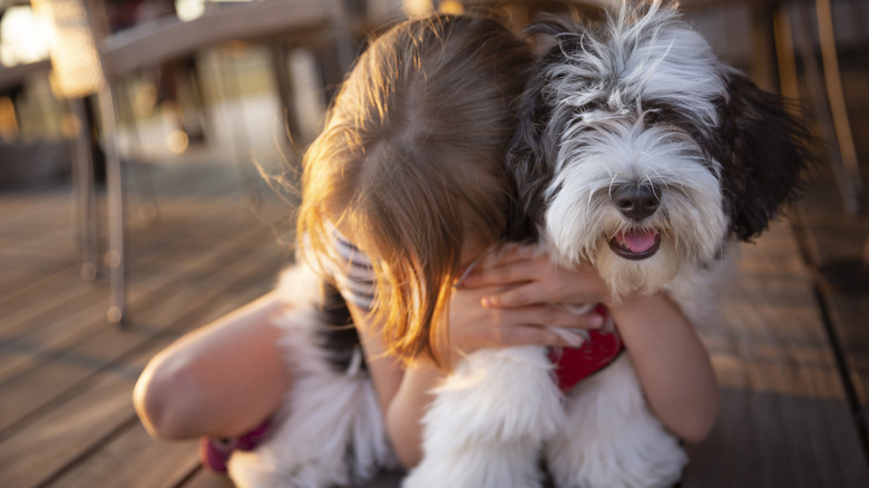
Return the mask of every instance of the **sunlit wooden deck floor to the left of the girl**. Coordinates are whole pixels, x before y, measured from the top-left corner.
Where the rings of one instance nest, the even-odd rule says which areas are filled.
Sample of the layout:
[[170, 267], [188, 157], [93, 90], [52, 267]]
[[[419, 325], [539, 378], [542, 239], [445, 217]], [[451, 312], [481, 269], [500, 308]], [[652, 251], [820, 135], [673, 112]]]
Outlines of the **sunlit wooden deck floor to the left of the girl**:
[[[194, 443], [154, 442], [130, 403], [146, 361], [267, 291], [287, 208], [242, 205], [237, 168], [157, 168], [159, 216], [129, 228], [131, 324], [106, 322], [104, 280], [79, 279], [67, 187], [0, 196], [0, 486], [176, 486]], [[135, 207], [135, 204], [133, 205]]]

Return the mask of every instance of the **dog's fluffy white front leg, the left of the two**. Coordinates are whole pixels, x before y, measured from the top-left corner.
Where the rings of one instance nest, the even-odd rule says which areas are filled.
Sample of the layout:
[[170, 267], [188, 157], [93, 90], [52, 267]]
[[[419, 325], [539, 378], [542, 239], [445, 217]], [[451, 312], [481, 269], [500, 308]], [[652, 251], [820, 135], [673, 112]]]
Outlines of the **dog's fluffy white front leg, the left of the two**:
[[404, 488], [540, 486], [543, 440], [564, 420], [544, 348], [484, 350], [462, 359], [423, 418], [423, 459]]

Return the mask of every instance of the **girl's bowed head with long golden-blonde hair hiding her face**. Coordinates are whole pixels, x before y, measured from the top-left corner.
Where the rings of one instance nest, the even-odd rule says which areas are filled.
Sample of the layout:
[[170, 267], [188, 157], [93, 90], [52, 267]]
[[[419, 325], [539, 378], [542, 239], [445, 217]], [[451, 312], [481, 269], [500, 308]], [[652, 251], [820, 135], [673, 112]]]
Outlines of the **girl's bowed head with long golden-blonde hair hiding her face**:
[[504, 154], [530, 72], [498, 20], [401, 23], [360, 57], [303, 162], [299, 235], [331, 255], [332, 226], [371, 257], [388, 351], [445, 364], [443, 311], [465, 261], [498, 241]]

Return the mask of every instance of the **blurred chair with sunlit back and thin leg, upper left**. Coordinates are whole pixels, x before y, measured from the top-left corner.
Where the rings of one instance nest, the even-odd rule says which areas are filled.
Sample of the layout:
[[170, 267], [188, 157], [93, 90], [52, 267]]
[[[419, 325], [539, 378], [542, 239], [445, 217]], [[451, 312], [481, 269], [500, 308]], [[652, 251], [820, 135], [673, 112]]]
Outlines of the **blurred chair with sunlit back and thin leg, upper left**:
[[[331, 31], [336, 39], [341, 64], [346, 68], [352, 61], [353, 49], [343, 6], [338, 0], [263, 0], [221, 8], [215, 6], [188, 22], [166, 17], [106, 36], [106, 30], [98, 26], [98, 0], [33, 0], [33, 4], [47, 14], [55, 27], [57, 42], [51, 50], [51, 62], [59, 94], [72, 101], [74, 106], [85, 96], [97, 96], [107, 169], [107, 315], [113, 323], [124, 323], [128, 313], [123, 167], [115, 120], [117, 84], [136, 70], [213, 48], [224, 41], [265, 41], [323, 30]], [[84, 148], [80, 156], [84, 160]], [[84, 166], [84, 163], [77, 164], [82, 178], [87, 178]], [[90, 185], [84, 188], [82, 193], [87, 195], [84, 205], [91, 202], [92, 183]]]

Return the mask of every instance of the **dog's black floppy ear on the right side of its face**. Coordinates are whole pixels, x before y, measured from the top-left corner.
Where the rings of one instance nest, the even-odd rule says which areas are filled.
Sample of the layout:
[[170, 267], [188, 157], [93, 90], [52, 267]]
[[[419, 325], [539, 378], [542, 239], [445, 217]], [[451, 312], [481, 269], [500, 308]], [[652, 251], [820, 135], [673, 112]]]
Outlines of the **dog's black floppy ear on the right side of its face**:
[[713, 144], [722, 164], [730, 231], [742, 241], [764, 231], [787, 201], [799, 197], [812, 162], [811, 136], [781, 97], [761, 90], [739, 72], [728, 74], [729, 100]]

